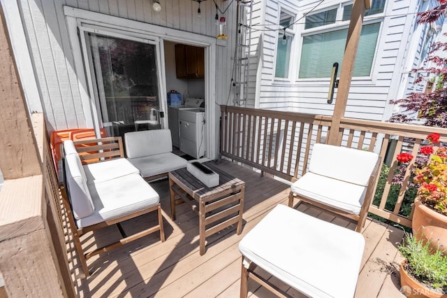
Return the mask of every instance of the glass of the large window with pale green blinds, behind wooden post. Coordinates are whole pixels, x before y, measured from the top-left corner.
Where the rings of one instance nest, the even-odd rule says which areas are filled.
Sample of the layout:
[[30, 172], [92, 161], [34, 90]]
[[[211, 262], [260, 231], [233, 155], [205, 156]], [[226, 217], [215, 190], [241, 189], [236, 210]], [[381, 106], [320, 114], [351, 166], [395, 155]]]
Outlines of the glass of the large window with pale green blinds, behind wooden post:
[[[367, 11], [369, 14], [382, 13], [384, 5], [384, 0], [373, 1], [372, 8]], [[305, 29], [326, 24], [332, 26], [303, 36], [299, 78], [329, 78], [334, 62], [342, 67], [351, 10], [352, 4], [340, 4], [338, 8], [306, 16]], [[380, 25], [381, 22], [363, 25], [353, 76], [370, 76]]]

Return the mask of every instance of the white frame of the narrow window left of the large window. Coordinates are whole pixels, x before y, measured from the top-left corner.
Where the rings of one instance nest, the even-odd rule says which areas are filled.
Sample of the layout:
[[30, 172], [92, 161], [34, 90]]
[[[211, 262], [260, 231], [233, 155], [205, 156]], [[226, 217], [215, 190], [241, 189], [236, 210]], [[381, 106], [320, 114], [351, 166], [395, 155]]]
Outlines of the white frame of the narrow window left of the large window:
[[[281, 22], [281, 13], [286, 13], [287, 15], [290, 15], [292, 17], [292, 22], [296, 21], [296, 13], [293, 13], [291, 9], [288, 9], [284, 6], [279, 6], [278, 9], [278, 14], [277, 14], [277, 20], [278, 23]], [[292, 78], [292, 74], [294, 73], [293, 71], [293, 65], [295, 64], [295, 55], [293, 55], [294, 52], [294, 45], [295, 45], [295, 28], [296, 28], [296, 24], [293, 24], [292, 28], [286, 28], [285, 32], [284, 29], [281, 29], [278, 31], [278, 37], [276, 38], [276, 41], [274, 43], [274, 63], [273, 63], [273, 70], [272, 70], [272, 77], [273, 77], [273, 81], [277, 81], [277, 82], [290, 82], [293, 80]], [[279, 36], [282, 34], [286, 34], [286, 36], [291, 38], [291, 49], [289, 52], [289, 57], [288, 57], [288, 73], [287, 73], [287, 78], [281, 78], [281, 77], [277, 77], [276, 76], [276, 69], [277, 69], [277, 57], [278, 57], [278, 43], [279, 43]]]

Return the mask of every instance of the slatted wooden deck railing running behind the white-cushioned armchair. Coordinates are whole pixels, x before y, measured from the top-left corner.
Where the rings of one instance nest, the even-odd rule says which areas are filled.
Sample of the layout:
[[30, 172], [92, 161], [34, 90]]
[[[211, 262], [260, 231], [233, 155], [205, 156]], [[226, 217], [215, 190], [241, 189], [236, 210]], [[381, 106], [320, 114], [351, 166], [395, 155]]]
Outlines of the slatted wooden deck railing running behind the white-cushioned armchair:
[[[221, 155], [293, 181], [306, 172], [313, 144], [327, 143], [331, 120], [323, 115], [222, 106]], [[396, 157], [404, 151], [416, 156], [427, 134], [433, 132], [441, 135], [442, 142], [447, 141], [447, 129], [342, 118], [336, 145], [379, 153], [383, 174], [389, 166], [388, 176], [382, 176], [386, 183], [369, 212], [411, 227], [412, 214], [405, 213], [402, 206], [410, 191], [414, 159], [404, 169], [398, 194], [392, 196], [390, 191], [395, 192], [397, 186], [392, 188], [399, 166]]]

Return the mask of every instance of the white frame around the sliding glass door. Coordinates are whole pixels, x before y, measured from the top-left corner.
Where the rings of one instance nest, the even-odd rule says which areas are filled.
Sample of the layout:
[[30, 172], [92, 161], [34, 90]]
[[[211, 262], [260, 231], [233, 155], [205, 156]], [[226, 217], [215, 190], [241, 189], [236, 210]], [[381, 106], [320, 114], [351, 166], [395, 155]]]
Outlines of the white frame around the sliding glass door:
[[[100, 114], [98, 114], [98, 106], [96, 106], [94, 99], [89, 96], [89, 94], [94, 94], [94, 92], [90, 90], [91, 82], [89, 82], [89, 80], [91, 80], [91, 78], [88, 78], [90, 73], [85, 72], [85, 64], [82, 57], [82, 46], [80, 44], [80, 39], [82, 40], [84, 36], [83, 34], [80, 34], [81, 38], [78, 38], [79, 24], [82, 24], [83, 27], [101, 26], [106, 28], [108, 32], [118, 35], [124, 34], [127, 36], [127, 39], [129, 39], [129, 36], [133, 36], [133, 38], [158, 41], [159, 48], [157, 48], [157, 50], [159, 50], [159, 55], [157, 55], [157, 59], [160, 59], [159, 65], [161, 65], [161, 78], [159, 78], [161, 79], [161, 85], [159, 88], [161, 96], [160, 111], [168, 111], [168, 104], [166, 100], [165, 65], [164, 59], [161, 59], [161, 57], [164, 57], [163, 41], [166, 40], [205, 48], [205, 73], [207, 74], [205, 76], [205, 99], [207, 99], [207, 104], [205, 105], [205, 117], [207, 118], [205, 129], [207, 131], [207, 136], [209, 136], [207, 138], [209, 141], [207, 141], [205, 150], [208, 158], [214, 159], [217, 157], [217, 143], [211, 138], [211, 136], [215, 135], [215, 124], [217, 121], [217, 106], [216, 102], [214, 101], [216, 98], [216, 38], [194, 34], [191, 32], [179, 31], [172, 28], [160, 27], [154, 24], [128, 20], [122, 17], [104, 15], [102, 13], [95, 13], [89, 10], [82, 10], [80, 8], [73, 8], [70, 6], [64, 6], [64, 15], [66, 16], [68, 38], [70, 39], [73, 51], [74, 68], [75, 73], [78, 76], [82, 104], [89, 107], [86, 110], [91, 111], [88, 115], [86, 113], [85, 116], [86, 118], [94, 120], [93, 125], [97, 135], [100, 135], [100, 120], [98, 119], [98, 115]], [[163, 118], [163, 127], [168, 127], [168, 117]]]

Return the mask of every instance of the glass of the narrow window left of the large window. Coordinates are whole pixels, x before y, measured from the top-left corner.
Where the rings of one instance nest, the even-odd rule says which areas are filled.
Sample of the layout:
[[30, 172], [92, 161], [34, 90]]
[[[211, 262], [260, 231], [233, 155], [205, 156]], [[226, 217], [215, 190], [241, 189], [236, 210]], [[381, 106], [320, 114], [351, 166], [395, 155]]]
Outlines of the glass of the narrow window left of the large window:
[[278, 31], [277, 59], [275, 64], [275, 78], [288, 78], [293, 41], [293, 22], [295, 16], [284, 10], [279, 14], [279, 24], [286, 29]]

